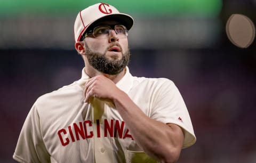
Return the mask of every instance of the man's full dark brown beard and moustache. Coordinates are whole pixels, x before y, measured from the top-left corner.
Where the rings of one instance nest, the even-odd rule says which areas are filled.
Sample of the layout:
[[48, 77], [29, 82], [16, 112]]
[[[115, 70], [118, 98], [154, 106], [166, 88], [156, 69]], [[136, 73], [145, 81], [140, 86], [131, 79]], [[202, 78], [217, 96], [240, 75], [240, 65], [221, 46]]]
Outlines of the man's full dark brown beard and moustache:
[[[109, 75], [117, 75], [119, 72], [123, 71], [124, 68], [128, 65], [130, 61], [130, 51], [129, 49], [123, 53], [121, 46], [119, 44], [114, 43], [111, 44], [109, 47], [106, 48], [106, 51], [104, 53], [99, 52], [93, 52], [85, 43], [85, 55], [87, 56], [89, 64], [96, 70], [102, 72], [103, 74], [109, 74]], [[111, 59], [108, 59], [106, 57], [106, 53], [108, 52], [108, 49], [112, 46], [119, 46], [121, 48], [122, 52], [122, 58], [117, 59], [115, 56]]]

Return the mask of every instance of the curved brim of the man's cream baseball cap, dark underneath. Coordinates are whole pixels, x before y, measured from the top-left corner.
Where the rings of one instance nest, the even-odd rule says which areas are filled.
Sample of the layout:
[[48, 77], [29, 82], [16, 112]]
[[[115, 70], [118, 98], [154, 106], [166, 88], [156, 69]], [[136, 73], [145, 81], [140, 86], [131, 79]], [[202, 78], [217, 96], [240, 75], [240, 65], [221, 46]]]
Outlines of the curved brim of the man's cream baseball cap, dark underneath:
[[127, 30], [130, 30], [132, 28], [133, 22], [134, 22], [133, 18], [127, 14], [123, 14], [123, 13], [110, 14], [89, 23], [89, 25], [86, 27], [82, 35], [84, 35], [84, 33], [87, 31], [87, 29], [90, 29], [90, 27], [97, 25], [97, 23], [101, 21], [108, 21], [108, 20], [120, 22], [121, 25], [124, 25]]

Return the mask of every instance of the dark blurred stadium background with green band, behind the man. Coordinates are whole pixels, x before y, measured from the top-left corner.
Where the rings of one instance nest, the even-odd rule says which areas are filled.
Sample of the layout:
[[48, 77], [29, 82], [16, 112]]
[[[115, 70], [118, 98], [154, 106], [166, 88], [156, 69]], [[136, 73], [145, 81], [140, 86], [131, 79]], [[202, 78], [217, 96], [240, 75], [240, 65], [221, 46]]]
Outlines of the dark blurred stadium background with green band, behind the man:
[[[135, 19], [129, 32], [134, 76], [169, 78], [187, 104], [197, 142], [179, 162], [256, 162], [256, 47], [231, 43], [231, 14], [256, 22], [255, 0], [102, 1]], [[84, 0], [0, 0], [0, 162], [42, 94], [81, 77], [74, 48]]]

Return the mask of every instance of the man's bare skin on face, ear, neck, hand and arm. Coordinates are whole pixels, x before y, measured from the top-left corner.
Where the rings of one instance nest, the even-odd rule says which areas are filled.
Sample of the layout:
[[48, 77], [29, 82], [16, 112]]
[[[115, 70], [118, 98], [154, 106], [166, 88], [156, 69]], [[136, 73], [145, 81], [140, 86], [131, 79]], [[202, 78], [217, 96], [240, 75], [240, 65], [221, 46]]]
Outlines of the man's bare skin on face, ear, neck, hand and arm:
[[[116, 22], [102, 23], [112, 25]], [[117, 42], [124, 53], [128, 50], [127, 38], [118, 38], [118, 35], [112, 30], [108, 38], [86, 37], [84, 41], [75, 43], [77, 52], [84, 59], [85, 72], [91, 77], [85, 84], [84, 102], [89, 102], [92, 97], [112, 102], [143, 151], [160, 162], [176, 162], [184, 141], [182, 129], [175, 124], [164, 124], [147, 117], [130, 97], [115, 85], [125, 75], [125, 70], [117, 75], [108, 75], [94, 69], [86, 58], [84, 42], [92, 51], [101, 53], [105, 52], [111, 43]], [[121, 52], [108, 51], [105, 55], [109, 59], [119, 60], [122, 58]]]

